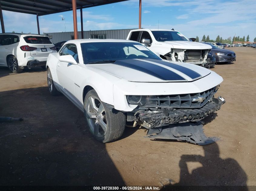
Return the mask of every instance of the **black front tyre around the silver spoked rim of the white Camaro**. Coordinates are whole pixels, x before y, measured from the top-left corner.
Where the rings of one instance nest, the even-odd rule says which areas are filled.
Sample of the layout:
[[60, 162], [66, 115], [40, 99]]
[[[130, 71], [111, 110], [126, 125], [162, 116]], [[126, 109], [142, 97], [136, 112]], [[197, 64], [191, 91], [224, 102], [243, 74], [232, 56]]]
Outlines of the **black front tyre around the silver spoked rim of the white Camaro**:
[[[91, 112], [91, 110], [93, 110], [93, 108], [91, 108], [88, 105], [88, 104], [90, 104], [89, 99], [94, 99], [95, 106], [98, 107], [98, 109], [100, 108], [100, 105], [102, 104], [104, 111], [103, 111], [102, 115], [100, 113], [98, 113], [98, 114], [100, 116], [103, 116], [102, 120], [106, 123], [105, 131], [103, 128], [101, 128], [101, 125], [98, 126], [98, 131], [97, 130], [95, 131], [95, 127], [94, 127], [94, 131], [92, 130], [93, 129], [92, 124], [95, 123], [94, 125], [96, 125], [97, 120], [101, 119], [101, 117], [99, 116], [98, 119], [96, 119], [96, 118], [93, 119], [93, 118], [88, 117], [89, 116], [88, 113], [93, 113], [93, 112]], [[84, 114], [85, 114], [85, 119], [88, 123], [88, 128], [89, 128], [90, 132], [92, 133], [94, 138], [96, 140], [98, 140], [99, 142], [107, 143], [107, 142], [115, 141], [116, 139], [121, 137], [125, 131], [125, 124], [126, 124], [125, 114], [121, 111], [115, 110], [111, 105], [102, 102], [100, 100], [100, 98], [98, 97], [98, 94], [96, 93], [95, 90], [90, 90], [85, 96]], [[95, 116], [97, 116], [97, 114]], [[98, 120], [98, 122], [99, 121], [100, 120]]]

